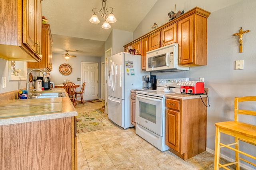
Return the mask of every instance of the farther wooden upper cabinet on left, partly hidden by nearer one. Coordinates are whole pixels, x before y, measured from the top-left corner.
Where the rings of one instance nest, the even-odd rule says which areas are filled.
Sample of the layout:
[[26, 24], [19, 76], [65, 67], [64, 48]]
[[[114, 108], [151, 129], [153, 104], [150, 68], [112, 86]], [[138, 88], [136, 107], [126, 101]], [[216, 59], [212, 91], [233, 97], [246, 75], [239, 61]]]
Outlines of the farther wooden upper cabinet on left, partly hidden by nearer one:
[[52, 71], [52, 33], [47, 23], [42, 24], [42, 60], [38, 63], [27, 62], [27, 67]]

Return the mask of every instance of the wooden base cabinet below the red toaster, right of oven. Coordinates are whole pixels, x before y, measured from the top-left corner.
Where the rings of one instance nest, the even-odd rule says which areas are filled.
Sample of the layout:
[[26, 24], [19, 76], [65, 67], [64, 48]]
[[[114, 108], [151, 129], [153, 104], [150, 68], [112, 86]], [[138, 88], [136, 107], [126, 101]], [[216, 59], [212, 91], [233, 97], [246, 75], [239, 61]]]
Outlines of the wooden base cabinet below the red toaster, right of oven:
[[166, 98], [166, 145], [184, 160], [206, 149], [207, 109], [202, 100]]

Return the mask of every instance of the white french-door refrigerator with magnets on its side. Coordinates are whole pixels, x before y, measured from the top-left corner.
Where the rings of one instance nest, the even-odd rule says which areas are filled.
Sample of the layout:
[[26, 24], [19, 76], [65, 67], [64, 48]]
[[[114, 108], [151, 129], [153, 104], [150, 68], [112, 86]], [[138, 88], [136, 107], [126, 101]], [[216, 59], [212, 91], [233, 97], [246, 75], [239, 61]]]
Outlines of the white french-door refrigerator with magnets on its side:
[[108, 118], [126, 129], [131, 124], [130, 90], [142, 89], [141, 56], [118, 53], [108, 58]]

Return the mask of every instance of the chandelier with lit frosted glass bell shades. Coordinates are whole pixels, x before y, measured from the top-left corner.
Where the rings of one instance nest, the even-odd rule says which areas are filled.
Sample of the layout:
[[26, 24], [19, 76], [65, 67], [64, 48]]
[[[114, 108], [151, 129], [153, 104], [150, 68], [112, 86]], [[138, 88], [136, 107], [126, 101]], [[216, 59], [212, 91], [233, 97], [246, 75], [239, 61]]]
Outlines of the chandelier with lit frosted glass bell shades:
[[[101, 16], [104, 19], [104, 22], [103, 22], [101, 27], [104, 28], [104, 29], [111, 28], [109, 23], [116, 22], [116, 18], [114, 16], [114, 14], [112, 13], [113, 12], [113, 8], [112, 7], [107, 8], [106, 1], [107, 0], [102, 0], [101, 9], [98, 9], [98, 8], [93, 8], [92, 9], [93, 14], [92, 14], [91, 19], [89, 20], [91, 23], [100, 23], [100, 20], [98, 19], [96, 14], [101, 12]], [[108, 12], [110, 14], [107, 15], [106, 12]]]

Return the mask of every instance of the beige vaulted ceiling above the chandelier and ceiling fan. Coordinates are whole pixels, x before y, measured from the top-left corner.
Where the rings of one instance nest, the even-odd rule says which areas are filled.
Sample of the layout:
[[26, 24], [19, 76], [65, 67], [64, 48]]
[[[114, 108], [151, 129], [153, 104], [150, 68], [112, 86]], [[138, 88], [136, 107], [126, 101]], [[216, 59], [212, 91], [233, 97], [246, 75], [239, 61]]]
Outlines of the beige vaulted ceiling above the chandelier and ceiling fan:
[[42, 1], [42, 16], [50, 24], [53, 47], [52, 52], [70, 55], [104, 56], [104, 41], [112, 28], [133, 32], [157, 0], [107, 0], [106, 5], [114, 8], [117, 21], [110, 23], [110, 29], [100, 23], [89, 21], [93, 8], [101, 8], [101, 0], [45, 0]]

